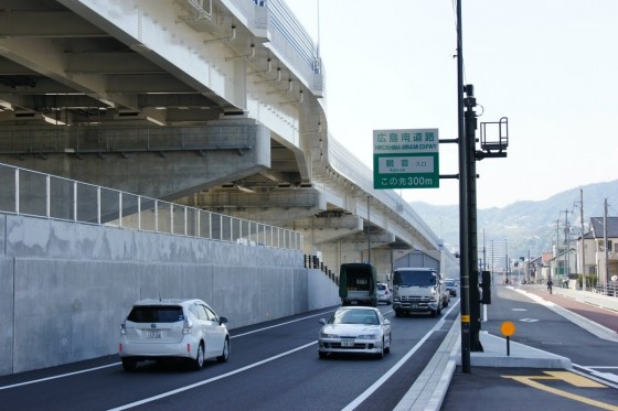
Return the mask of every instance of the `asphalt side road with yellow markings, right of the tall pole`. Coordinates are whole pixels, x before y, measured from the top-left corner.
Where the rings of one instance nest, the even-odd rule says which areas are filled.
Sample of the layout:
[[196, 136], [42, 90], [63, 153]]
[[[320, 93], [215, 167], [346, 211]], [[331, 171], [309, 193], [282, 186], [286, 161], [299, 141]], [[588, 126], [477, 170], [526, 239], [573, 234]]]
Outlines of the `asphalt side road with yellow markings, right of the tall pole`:
[[[536, 295], [545, 296], [541, 293]], [[496, 296], [496, 298], [493, 298]], [[572, 360], [573, 370], [540, 368], [458, 367], [441, 410], [543, 410], [618, 411], [618, 345], [598, 338], [587, 329], [550, 310], [567, 303], [571, 310], [597, 311], [593, 306], [558, 301], [531, 300], [515, 290], [497, 286], [488, 321], [482, 329], [501, 335], [504, 321], [516, 326], [513, 342], [550, 351]], [[618, 313], [606, 311], [604, 315]]]

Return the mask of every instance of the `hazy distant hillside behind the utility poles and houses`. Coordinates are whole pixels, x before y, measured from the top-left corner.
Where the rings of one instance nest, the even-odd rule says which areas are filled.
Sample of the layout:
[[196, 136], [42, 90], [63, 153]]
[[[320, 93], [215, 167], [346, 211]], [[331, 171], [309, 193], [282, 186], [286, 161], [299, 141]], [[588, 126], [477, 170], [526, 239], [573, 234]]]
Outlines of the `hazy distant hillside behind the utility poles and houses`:
[[[556, 221], [560, 217], [560, 242], [564, 241], [565, 210], [572, 225], [572, 238], [580, 232], [579, 191], [584, 192], [584, 224], [588, 230], [590, 217], [603, 217], [604, 202], [609, 204], [609, 216], [618, 215], [618, 180], [572, 188], [542, 202], [516, 202], [509, 206], [477, 212], [479, 250], [482, 249], [483, 230], [486, 247], [490, 241], [508, 241], [509, 255], [539, 257], [552, 251], [556, 241]], [[431, 227], [445, 244], [459, 248], [459, 206], [435, 206], [423, 202], [409, 205]], [[562, 212], [562, 213], [561, 213]]]

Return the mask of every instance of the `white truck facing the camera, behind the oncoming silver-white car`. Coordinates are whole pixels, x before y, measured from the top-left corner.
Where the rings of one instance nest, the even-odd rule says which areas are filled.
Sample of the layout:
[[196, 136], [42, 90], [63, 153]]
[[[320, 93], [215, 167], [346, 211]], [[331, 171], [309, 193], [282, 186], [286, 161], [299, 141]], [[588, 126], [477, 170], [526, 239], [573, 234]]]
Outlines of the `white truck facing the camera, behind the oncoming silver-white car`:
[[434, 268], [397, 268], [393, 271], [393, 310], [406, 313], [441, 314], [446, 306], [445, 285]]

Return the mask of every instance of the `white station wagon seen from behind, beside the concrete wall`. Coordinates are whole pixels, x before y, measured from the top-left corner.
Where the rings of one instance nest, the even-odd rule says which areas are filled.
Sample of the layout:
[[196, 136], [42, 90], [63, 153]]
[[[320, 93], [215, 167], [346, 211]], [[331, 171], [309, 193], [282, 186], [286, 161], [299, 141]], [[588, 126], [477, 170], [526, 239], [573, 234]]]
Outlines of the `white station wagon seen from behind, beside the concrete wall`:
[[118, 354], [127, 371], [146, 359], [181, 358], [201, 369], [206, 358], [226, 361], [226, 317], [202, 300], [142, 300], [120, 325]]

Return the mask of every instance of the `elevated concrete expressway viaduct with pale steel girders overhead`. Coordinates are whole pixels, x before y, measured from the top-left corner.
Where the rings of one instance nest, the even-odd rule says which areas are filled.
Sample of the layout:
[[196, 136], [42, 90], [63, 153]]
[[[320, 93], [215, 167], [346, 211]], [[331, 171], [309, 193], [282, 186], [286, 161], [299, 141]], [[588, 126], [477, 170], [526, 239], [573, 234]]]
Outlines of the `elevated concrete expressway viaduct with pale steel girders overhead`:
[[457, 270], [329, 133], [326, 78], [284, 0], [0, 0], [0, 163], [289, 228], [333, 271]]

